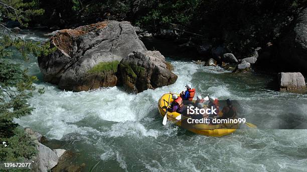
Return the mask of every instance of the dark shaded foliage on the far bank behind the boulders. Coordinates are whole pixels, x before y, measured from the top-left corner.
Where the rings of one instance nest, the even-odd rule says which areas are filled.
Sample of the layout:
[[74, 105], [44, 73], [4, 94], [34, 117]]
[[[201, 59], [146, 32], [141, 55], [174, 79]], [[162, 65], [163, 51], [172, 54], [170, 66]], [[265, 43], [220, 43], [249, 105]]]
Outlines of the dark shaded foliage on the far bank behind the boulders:
[[[223, 45], [239, 58], [249, 56], [252, 48], [274, 43], [298, 12], [307, 7], [307, 0], [56, 0], [50, 3], [40, 1], [47, 12], [41, 21], [50, 26], [67, 28], [103, 20], [127, 20], [149, 32], [159, 32], [174, 23], [179, 29], [203, 35], [200, 40], [213, 46]], [[61, 23], [61, 19], [65, 22]]]

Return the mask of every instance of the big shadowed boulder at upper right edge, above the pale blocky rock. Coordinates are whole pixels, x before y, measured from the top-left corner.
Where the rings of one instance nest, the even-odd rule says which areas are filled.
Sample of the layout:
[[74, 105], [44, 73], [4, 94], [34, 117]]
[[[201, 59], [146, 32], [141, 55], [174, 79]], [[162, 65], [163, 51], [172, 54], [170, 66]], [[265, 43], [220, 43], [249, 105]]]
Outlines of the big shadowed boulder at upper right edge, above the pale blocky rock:
[[300, 12], [295, 25], [282, 38], [278, 49], [287, 66], [307, 72], [307, 8]]

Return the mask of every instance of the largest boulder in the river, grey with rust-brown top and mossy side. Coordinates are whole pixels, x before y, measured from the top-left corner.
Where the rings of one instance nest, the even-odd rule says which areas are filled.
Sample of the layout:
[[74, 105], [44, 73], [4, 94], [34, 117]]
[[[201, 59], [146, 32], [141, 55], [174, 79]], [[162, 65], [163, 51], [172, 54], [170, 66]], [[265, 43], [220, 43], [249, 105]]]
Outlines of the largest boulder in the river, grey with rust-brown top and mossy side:
[[125, 21], [60, 30], [50, 43], [56, 51], [38, 58], [44, 80], [71, 91], [114, 86], [120, 60], [132, 51], [146, 51]]

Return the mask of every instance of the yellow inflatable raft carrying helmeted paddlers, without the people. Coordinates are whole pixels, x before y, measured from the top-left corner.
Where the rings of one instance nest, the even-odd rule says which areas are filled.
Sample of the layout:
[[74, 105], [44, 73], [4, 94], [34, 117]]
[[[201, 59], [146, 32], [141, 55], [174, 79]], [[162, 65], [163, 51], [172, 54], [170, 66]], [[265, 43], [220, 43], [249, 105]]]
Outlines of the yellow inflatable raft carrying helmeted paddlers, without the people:
[[[172, 94], [170, 93], [164, 94], [159, 99], [158, 108], [159, 108], [160, 115], [162, 117], [165, 116], [165, 112], [168, 107], [169, 98], [170, 98], [170, 104], [171, 104], [173, 102], [173, 99], [172, 99]], [[179, 113], [168, 112], [167, 115], [168, 115], [168, 121], [176, 123], [176, 125], [178, 126], [182, 126], [182, 121], [175, 119], [177, 116], [180, 115]], [[222, 114], [219, 114], [219, 115], [221, 116]], [[202, 135], [213, 136], [213, 137], [221, 137], [221, 136], [233, 133], [234, 131], [237, 130], [238, 127], [239, 127], [238, 123], [218, 124], [218, 125], [195, 124], [193, 125], [193, 127], [187, 127], [186, 129], [196, 134], [202, 134]]]

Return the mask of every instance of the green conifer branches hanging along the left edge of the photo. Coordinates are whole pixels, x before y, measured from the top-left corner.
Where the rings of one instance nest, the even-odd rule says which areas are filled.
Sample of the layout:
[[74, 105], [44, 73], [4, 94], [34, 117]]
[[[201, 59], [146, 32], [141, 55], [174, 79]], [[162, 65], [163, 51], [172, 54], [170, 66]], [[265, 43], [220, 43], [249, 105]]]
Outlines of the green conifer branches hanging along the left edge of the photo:
[[[22, 70], [10, 57], [15, 50], [27, 60], [30, 53], [46, 55], [54, 49], [50, 49], [48, 43], [41, 45], [39, 42], [27, 42], [2, 23], [13, 20], [22, 27], [28, 26], [31, 16], [44, 12], [35, 9], [36, 5], [37, 1], [0, 1], [0, 161], [24, 162], [36, 153], [33, 140], [13, 120], [31, 113], [33, 108], [28, 99], [33, 91], [43, 93], [43, 89], [37, 90], [33, 85], [37, 77], [29, 76], [27, 70]], [[2, 144], [3, 141], [6, 145]]]

